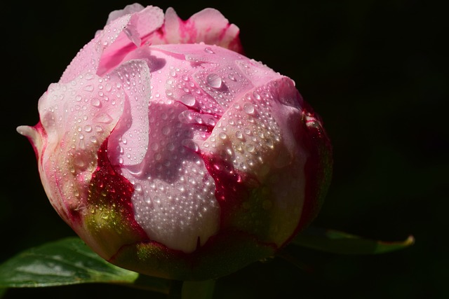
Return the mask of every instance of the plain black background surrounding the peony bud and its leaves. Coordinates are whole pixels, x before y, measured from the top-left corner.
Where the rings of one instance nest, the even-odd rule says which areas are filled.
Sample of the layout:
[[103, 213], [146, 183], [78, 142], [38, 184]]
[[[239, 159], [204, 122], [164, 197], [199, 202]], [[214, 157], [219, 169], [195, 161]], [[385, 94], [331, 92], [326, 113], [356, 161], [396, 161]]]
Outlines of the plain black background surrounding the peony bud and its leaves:
[[[78, 50], [127, 1], [2, 4], [0, 262], [74, 235], [49, 204], [32, 147], [15, 132], [38, 121], [37, 101]], [[181, 18], [206, 7], [241, 29], [248, 57], [293, 78], [323, 117], [335, 169], [315, 226], [373, 239], [414, 235], [380, 256], [302, 249], [307, 273], [284, 260], [217, 282], [217, 298], [443, 298], [448, 295], [448, 62], [436, 1], [142, 1]], [[86, 293], [88, 292], [88, 293]], [[163, 298], [100, 284], [12, 289], [5, 298]], [[88, 296], [89, 298], [90, 296]], [[448, 298], [448, 297], [446, 297]]]

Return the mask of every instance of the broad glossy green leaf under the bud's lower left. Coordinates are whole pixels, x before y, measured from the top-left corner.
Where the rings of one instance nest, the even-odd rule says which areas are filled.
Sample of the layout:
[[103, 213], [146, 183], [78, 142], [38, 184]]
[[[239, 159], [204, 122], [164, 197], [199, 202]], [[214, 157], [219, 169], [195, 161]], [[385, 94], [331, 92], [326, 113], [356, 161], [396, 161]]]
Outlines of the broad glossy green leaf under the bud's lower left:
[[[0, 288], [62, 286], [84, 283], [166, 286], [166, 279], [141, 277], [102, 259], [77, 237], [27, 249], [0, 265]], [[140, 282], [140, 281], [143, 281]]]

